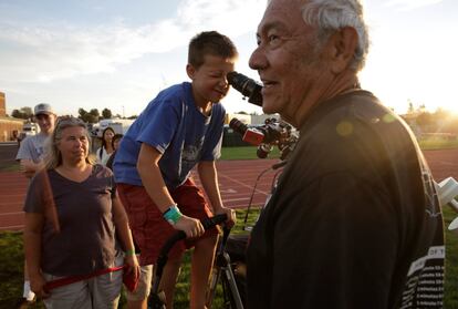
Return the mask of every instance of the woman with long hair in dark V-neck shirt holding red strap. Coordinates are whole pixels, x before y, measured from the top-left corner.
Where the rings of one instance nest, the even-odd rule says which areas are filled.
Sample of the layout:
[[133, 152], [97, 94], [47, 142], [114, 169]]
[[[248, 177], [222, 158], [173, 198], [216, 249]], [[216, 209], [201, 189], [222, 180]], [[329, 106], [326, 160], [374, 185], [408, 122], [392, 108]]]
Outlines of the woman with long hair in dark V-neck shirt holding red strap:
[[32, 290], [46, 308], [117, 308], [123, 271], [94, 276], [48, 291], [46, 281], [123, 265], [139, 276], [128, 220], [113, 173], [89, 156], [90, 135], [75, 117], [61, 117], [44, 169], [25, 198], [24, 250]]

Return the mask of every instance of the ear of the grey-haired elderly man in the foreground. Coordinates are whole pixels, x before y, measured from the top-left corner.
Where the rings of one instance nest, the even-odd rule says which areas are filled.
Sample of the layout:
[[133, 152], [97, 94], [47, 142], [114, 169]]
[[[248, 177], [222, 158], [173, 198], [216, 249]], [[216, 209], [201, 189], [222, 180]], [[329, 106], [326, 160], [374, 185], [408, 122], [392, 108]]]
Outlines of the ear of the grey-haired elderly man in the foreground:
[[339, 74], [348, 68], [357, 48], [357, 32], [352, 27], [345, 27], [330, 38], [331, 70]]

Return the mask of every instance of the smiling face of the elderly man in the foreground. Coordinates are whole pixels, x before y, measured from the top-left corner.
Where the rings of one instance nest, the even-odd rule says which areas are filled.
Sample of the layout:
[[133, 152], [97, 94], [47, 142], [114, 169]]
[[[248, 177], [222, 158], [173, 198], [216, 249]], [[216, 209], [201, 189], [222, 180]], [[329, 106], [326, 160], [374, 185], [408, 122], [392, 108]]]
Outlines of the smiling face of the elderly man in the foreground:
[[264, 84], [263, 111], [292, 119], [323, 68], [314, 29], [301, 16], [300, 0], [272, 0], [258, 27], [258, 48], [250, 68]]

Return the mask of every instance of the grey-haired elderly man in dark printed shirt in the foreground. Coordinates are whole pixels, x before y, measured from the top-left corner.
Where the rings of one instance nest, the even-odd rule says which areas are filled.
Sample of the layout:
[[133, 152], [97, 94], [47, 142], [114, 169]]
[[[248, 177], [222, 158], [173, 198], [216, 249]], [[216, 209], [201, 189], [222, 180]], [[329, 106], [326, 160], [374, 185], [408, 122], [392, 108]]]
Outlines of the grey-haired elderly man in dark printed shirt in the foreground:
[[443, 308], [437, 193], [409, 127], [360, 87], [361, 1], [271, 0], [257, 41], [263, 112], [300, 138], [251, 234], [248, 308]]

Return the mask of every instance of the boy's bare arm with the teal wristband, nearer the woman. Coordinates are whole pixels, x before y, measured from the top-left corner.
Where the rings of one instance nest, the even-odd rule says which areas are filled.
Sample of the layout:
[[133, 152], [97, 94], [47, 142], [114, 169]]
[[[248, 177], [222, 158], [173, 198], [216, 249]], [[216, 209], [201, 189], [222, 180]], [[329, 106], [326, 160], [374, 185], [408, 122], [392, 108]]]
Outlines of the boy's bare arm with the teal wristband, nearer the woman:
[[[160, 173], [158, 165], [160, 157], [162, 153], [155, 147], [143, 143], [138, 154], [137, 171], [149, 197], [164, 214], [170, 206], [175, 205], [175, 200], [168, 193]], [[198, 237], [205, 231], [198, 219], [185, 215], [173, 227], [185, 231], [188, 237]]]

